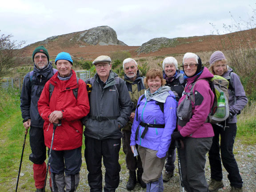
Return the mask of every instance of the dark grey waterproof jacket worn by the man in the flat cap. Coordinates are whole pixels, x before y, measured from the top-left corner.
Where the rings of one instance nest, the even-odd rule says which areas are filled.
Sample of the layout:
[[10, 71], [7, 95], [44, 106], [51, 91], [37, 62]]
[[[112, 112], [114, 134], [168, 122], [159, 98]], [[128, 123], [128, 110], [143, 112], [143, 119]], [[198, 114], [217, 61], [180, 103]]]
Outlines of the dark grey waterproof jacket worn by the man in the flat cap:
[[[132, 112], [131, 99], [124, 80], [117, 77], [119, 84], [116, 84], [116, 73], [110, 71], [108, 80], [101, 87], [99, 76], [96, 73], [95, 81], [90, 93], [90, 114], [85, 123], [84, 135], [98, 140], [120, 139], [122, 137], [121, 128], [127, 123]], [[89, 79], [85, 82], [88, 83]], [[119, 91], [118, 91], [119, 89]], [[110, 120], [95, 120], [92, 116], [114, 117]], [[120, 125], [120, 128], [118, 127]]]

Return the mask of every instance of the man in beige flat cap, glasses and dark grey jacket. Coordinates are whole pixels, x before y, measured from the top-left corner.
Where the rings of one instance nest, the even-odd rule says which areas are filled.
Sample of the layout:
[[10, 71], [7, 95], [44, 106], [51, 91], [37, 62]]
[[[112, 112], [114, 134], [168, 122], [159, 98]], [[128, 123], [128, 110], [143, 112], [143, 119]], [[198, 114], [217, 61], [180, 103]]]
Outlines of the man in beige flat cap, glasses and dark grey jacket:
[[105, 172], [104, 192], [115, 192], [119, 185], [121, 128], [132, 111], [131, 99], [124, 80], [112, 72], [109, 56], [99, 56], [92, 64], [96, 74], [86, 80], [92, 85], [89, 95], [90, 113], [85, 123], [84, 157], [91, 192], [102, 191], [101, 159]]

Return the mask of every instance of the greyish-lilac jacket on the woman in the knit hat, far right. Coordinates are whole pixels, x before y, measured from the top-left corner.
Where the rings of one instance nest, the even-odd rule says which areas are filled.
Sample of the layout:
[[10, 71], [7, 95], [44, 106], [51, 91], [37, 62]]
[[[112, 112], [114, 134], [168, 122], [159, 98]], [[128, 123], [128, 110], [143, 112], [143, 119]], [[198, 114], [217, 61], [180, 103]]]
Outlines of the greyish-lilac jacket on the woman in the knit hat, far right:
[[[222, 77], [225, 79], [228, 79], [229, 73], [232, 72], [232, 68], [228, 68], [228, 71], [225, 72]], [[234, 89], [234, 93], [228, 89], [228, 106], [229, 106], [229, 112], [231, 112], [233, 115], [237, 114], [240, 110], [244, 108], [244, 106], [247, 104], [248, 99], [245, 96], [244, 87], [241, 84], [240, 78], [236, 73], [232, 72], [231, 74], [231, 82], [232, 87]], [[234, 115], [231, 119], [228, 120], [228, 123], [236, 123], [237, 118], [236, 115]]]

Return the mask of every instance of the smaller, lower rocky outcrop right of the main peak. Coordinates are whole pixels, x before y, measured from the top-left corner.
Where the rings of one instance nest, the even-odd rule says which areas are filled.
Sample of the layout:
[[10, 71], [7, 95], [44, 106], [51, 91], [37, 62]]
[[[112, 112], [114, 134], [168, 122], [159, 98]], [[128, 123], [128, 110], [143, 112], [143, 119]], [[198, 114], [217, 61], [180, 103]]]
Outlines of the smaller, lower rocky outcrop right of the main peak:
[[148, 42], [142, 44], [140, 48], [136, 50], [138, 54], [140, 53], [148, 53], [148, 52], [156, 52], [161, 48], [166, 47], [175, 47], [177, 44], [177, 39], [168, 39], [166, 37], [154, 38], [149, 40]]

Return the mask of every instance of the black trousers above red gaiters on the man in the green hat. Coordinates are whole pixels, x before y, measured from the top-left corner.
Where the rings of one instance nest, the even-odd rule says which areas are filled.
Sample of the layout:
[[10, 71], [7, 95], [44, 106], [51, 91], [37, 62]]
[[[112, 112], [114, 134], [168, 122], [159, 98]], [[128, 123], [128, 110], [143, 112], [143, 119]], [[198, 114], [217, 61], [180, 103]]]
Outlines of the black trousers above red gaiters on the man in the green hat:
[[30, 127], [29, 142], [32, 153], [29, 160], [34, 164], [43, 164], [46, 160], [46, 146], [44, 144], [43, 128]]

